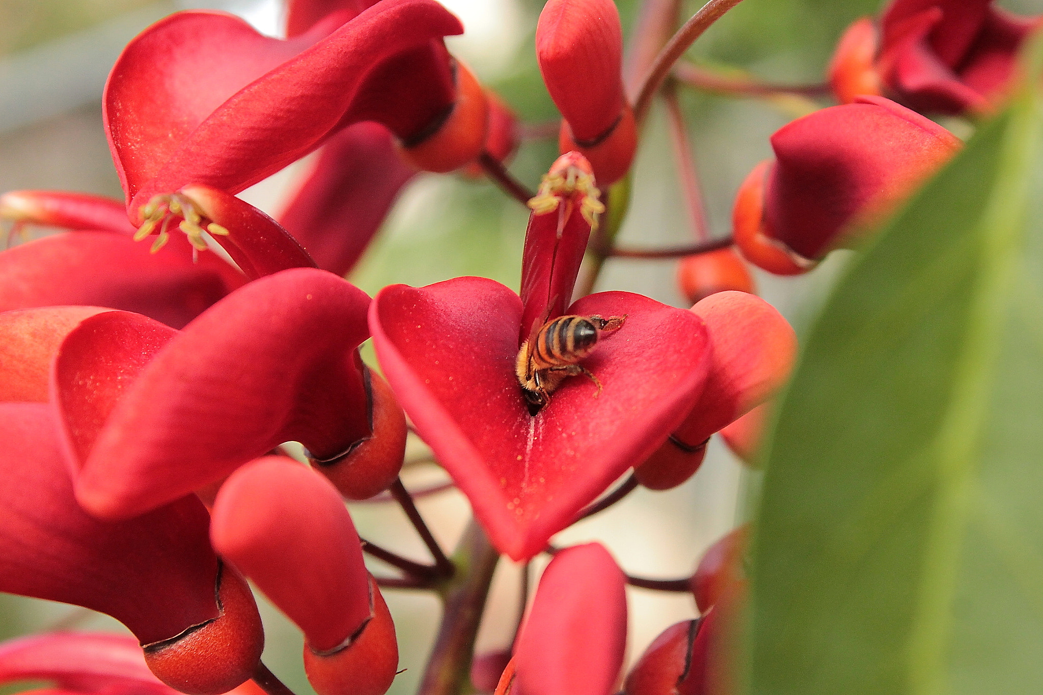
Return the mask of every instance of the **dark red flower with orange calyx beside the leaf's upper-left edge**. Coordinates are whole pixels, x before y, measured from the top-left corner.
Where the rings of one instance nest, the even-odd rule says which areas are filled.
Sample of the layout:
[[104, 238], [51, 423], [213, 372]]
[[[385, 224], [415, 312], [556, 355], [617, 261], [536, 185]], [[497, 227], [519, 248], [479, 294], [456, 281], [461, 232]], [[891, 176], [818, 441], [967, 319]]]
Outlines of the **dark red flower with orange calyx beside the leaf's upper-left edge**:
[[739, 189], [736, 243], [766, 270], [787, 272], [789, 257], [799, 272], [806, 259], [860, 241], [960, 147], [942, 126], [882, 97], [797, 119], [772, 135], [776, 158]]

